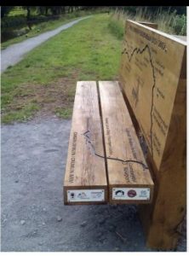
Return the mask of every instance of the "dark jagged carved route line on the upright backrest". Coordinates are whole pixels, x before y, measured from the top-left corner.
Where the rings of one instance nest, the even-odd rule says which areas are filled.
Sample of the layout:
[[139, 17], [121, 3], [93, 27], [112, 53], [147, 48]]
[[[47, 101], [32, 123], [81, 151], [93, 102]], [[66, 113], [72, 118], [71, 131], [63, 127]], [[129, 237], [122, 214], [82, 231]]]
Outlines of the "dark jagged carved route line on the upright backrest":
[[[124, 40], [126, 44], [128, 44], [127, 40]], [[129, 46], [129, 44], [128, 44]], [[153, 63], [152, 63], [152, 53], [151, 53], [151, 49], [149, 47], [148, 44], [146, 44], [146, 46], [143, 48], [143, 49], [140, 49], [140, 48], [135, 48], [132, 53], [129, 55], [129, 52], [127, 51], [126, 48], [123, 49], [123, 52], [122, 52], [122, 55], [123, 54], [126, 54], [128, 55], [128, 58], [129, 58], [129, 62], [131, 61], [133, 55], [135, 54], [142, 54], [146, 49], [148, 49], [148, 53], [150, 55], [150, 63], [151, 63], [151, 66], [152, 66], [152, 76], [153, 76], [153, 84], [152, 84], [152, 103], [151, 103], [151, 127], [150, 127], [150, 137], [151, 137], [151, 151], [152, 151], [152, 156], [153, 156], [153, 145], [152, 145], [152, 126], [153, 126], [153, 121], [152, 121], [152, 111], [153, 111], [153, 105], [154, 105], [154, 89], [155, 89], [155, 86], [156, 86], [156, 76], [155, 76], [155, 69], [154, 69], [154, 66], [153, 66]]]

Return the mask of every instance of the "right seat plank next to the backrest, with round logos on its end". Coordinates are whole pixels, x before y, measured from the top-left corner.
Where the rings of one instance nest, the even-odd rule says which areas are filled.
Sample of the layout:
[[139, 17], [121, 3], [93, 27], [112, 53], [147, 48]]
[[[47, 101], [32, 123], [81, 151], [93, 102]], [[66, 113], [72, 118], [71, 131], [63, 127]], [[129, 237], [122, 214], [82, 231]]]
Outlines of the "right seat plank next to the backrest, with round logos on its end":
[[106, 144], [109, 201], [150, 203], [153, 191], [152, 177], [118, 83], [100, 81], [99, 89]]

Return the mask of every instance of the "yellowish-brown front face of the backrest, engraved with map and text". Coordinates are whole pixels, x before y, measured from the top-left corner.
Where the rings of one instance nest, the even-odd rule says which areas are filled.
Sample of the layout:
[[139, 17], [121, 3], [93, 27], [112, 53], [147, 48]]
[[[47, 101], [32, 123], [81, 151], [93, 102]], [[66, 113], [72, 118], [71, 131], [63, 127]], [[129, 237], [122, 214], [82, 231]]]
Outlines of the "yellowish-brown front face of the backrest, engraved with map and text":
[[120, 81], [159, 168], [169, 131], [186, 43], [127, 21]]

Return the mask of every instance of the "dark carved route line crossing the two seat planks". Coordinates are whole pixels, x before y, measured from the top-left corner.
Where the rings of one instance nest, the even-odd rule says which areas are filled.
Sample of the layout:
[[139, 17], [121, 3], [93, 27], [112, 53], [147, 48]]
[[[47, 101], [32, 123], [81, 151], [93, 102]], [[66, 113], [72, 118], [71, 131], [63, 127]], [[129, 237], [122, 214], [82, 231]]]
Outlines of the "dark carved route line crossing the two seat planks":
[[136, 164], [140, 164], [141, 166], [143, 166], [144, 169], [148, 169], [148, 167], [147, 167], [143, 162], [141, 162], [141, 161], [137, 161], [137, 160], [123, 160], [123, 159], [114, 158], [114, 157], [109, 157], [109, 156], [105, 157], [104, 155], [100, 155], [100, 154], [96, 153], [95, 148], [94, 148], [94, 145], [93, 145], [93, 143], [91, 143], [91, 141], [90, 141], [90, 137], [89, 137], [89, 135], [88, 135], [89, 132], [90, 132], [89, 130], [83, 132], [83, 137], [85, 138], [86, 143], [88, 143], [88, 144], [90, 145], [90, 148], [92, 148], [92, 154], [94, 154], [94, 155], [96, 155], [96, 156], [98, 156], [98, 157], [100, 157], [100, 158], [103, 158], [103, 159], [105, 159], [105, 160], [117, 160], [117, 161], [122, 162], [123, 164], [129, 163], [129, 162], [131, 162], [131, 163], [136, 163]]

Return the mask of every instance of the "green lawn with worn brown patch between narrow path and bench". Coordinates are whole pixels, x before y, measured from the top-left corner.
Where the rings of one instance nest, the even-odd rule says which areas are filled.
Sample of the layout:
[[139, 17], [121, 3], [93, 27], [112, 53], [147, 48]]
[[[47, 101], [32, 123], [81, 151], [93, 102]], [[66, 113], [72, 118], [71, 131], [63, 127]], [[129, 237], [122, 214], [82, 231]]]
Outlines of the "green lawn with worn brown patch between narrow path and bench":
[[2, 122], [26, 121], [35, 113], [72, 115], [77, 80], [117, 79], [122, 40], [94, 15], [33, 49], [2, 74]]

